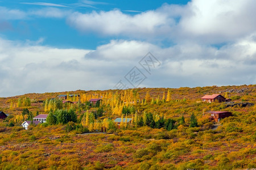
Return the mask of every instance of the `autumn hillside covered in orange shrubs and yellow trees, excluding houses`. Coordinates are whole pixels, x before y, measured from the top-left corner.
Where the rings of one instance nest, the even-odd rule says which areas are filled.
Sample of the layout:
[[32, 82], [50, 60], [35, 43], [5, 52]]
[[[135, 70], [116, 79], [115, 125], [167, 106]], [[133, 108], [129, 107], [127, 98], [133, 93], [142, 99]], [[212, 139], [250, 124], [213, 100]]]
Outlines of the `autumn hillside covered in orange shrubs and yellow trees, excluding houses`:
[[[200, 99], [212, 94], [232, 102]], [[98, 105], [89, 102], [99, 98]], [[255, 84], [26, 94], [1, 97], [0, 111], [9, 114], [0, 120], [1, 169], [256, 168]], [[210, 111], [232, 116], [213, 122]], [[72, 121], [59, 118], [69, 112]], [[57, 118], [21, 127], [38, 114]], [[118, 117], [133, 121], [119, 127]], [[108, 133], [97, 133], [102, 126]]]

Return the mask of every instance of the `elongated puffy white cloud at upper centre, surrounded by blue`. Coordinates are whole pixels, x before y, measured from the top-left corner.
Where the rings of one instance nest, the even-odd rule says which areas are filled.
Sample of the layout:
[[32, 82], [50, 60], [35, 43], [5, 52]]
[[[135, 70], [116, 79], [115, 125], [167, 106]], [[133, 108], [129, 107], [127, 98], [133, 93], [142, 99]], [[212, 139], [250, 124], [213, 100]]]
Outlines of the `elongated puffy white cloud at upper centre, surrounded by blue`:
[[82, 32], [144, 37], [154, 35], [156, 31], [160, 34], [166, 33], [169, 27], [166, 23], [174, 24], [175, 22], [174, 19], [168, 19], [164, 14], [155, 11], [127, 15], [119, 10], [113, 10], [93, 11], [90, 14], [74, 12], [69, 16], [68, 23]]

